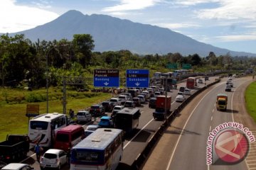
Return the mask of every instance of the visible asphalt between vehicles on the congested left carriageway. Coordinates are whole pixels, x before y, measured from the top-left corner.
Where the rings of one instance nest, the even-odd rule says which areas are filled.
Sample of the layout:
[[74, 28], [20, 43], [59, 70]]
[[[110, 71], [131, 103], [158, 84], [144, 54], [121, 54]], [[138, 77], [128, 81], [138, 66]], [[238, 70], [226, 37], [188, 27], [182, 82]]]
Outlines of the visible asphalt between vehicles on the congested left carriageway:
[[[216, 77], [210, 77], [210, 81], [206, 81], [206, 84], [210, 84], [215, 80]], [[178, 84], [178, 88], [180, 86], [186, 86], [186, 83]], [[201, 87], [205, 86], [205, 84], [198, 84], [198, 87], [191, 91], [193, 94], [196, 90], [200, 89]], [[171, 95], [171, 111], [174, 111], [176, 107], [178, 107], [181, 103], [175, 102], [175, 97], [178, 93], [177, 89], [171, 90], [168, 95]], [[188, 96], [186, 96], [188, 98]], [[129, 169], [129, 167], [134, 162], [134, 159], [138, 157], [138, 155], [142, 152], [144, 147], [146, 147], [147, 142], [149, 139], [154, 135], [154, 132], [160, 127], [163, 123], [161, 120], [154, 120], [153, 119], [153, 108], [148, 107], [148, 103], [146, 102], [141, 107], [141, 117], [139, 118], [139, 127], [135, 130], [131, 135], [126, 137], [124, 141], [124, 154], [122, 161], [120, 162], [117, 169]], [[107, 113], [110, 114], [110, 113]], [[99, 118], [97, 118], [94, 124], [99, 122]], [[85, 127], [86, 128], [86, 127]], [[40, 169], [39, 163], [36, 162], [36, 155], [33, 152], [28, 153], [29, 157], [23, 161], [23, 163], [30, 164], [35, 169]], [[63, 170], [69, 169], [68, 166], [63, 166]]]

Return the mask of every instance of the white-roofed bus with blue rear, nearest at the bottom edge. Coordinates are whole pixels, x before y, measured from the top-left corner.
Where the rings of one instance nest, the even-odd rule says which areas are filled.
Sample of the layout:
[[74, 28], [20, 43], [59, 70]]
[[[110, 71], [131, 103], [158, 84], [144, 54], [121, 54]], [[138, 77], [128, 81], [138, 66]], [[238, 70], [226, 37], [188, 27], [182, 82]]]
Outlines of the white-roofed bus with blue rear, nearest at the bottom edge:
[[117, 169], [123, 154], [123, 130], [98, 128], [71, 149], [70, 170]]

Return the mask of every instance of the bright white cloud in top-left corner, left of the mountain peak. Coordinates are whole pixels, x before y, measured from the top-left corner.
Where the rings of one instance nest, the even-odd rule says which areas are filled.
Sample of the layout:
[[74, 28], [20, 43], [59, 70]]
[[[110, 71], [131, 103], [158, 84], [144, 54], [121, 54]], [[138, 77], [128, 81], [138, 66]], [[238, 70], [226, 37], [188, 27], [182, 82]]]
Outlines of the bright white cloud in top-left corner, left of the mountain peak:
[[15, 3], [15, 0], [1, 0], [0, 33], [15, 33], [35, 28], [58, 17], [57, 13], [40, 8], [18, 6]]

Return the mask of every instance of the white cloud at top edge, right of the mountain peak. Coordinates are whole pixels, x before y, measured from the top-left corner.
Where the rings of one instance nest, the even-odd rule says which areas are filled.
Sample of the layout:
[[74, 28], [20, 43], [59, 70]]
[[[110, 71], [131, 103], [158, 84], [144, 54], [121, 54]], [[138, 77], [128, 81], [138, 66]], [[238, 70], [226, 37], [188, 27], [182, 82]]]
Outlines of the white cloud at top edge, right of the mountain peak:
[[120, 0], [120, 3], [116, 6], [111, 6], [107, 8], [103, 8], [102, 11], [105, 12], [114, 12], [114, 11], [130, 11], [130, 10], [138, 10], [144, 9], [150, 6], [154, 6], [156, 3], [161, 0]]

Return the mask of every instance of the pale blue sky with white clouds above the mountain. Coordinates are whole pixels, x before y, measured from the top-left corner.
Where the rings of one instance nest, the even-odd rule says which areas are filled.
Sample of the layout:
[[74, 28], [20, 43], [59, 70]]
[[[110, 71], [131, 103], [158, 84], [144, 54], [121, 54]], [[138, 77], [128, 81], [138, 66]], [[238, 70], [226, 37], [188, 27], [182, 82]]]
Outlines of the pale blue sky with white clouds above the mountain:
[[69, 10], [169, 28], [215, 47], [256, 54], [255, 0], [1, 0], [0, 33], [35, 28]]

